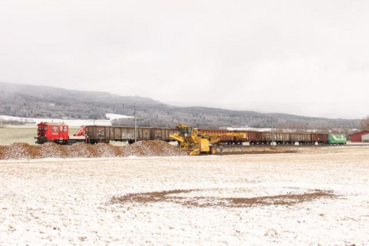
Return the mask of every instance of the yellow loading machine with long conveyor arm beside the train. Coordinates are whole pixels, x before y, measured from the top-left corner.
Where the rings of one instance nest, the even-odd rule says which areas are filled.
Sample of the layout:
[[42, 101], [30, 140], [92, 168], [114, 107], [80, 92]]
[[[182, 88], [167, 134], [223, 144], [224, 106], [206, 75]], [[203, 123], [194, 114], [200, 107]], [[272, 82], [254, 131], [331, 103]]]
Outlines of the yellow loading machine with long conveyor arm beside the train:
[[222, 145], [221, 136], [234, 136], [237, 138], [246, 138], [246, 133], [201, 133], [197, 129], [185, 124], [177, 123], [179, 130], [176, 134], [170, 134], [169, 137], [179, 142], [179, 148], [189, 152], [190, 156], [200, 153], [217, 153], [217, 145]]

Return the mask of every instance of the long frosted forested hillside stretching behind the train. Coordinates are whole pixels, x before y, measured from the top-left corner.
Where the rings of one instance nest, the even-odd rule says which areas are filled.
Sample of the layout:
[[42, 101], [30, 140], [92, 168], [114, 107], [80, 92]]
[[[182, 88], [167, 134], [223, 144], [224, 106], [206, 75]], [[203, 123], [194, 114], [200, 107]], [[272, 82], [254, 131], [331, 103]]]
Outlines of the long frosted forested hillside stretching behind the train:
[[[175, 107], [147, 97], [119, 96], [107, 92], [66, 90], [48, 86], [31, 86], [0, 82], [0, 115], [32, 118], [106, 119], [106, 113], [133, 115], [122, 104], [137, 103], [138, 124], [174, 127], [185, 122], [195, 127], [249, 126], [270, 127], [299, 124], [314, 128], [357, 128], [359, 119], [327, 119], [289, 114], [263, 114], [207, 107]], [[131, 119], [114, 124], [130, 125]]]

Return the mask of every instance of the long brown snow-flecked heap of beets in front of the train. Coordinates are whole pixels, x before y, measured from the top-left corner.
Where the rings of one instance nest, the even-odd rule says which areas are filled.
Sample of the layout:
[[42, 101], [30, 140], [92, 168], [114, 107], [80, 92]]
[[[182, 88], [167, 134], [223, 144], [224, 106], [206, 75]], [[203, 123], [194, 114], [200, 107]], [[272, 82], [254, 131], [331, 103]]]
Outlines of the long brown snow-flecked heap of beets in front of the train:
[[0, 159], [186, 155], [187, 153], [178, 147], [159, 140], [138, 141], [127, 146], [114, 146], [107, 143], [98, 143], [96, 145], [88, 145], [86, 143], [75, 143], [73, 145], [13, 143], [7, 146], [0, 146]]

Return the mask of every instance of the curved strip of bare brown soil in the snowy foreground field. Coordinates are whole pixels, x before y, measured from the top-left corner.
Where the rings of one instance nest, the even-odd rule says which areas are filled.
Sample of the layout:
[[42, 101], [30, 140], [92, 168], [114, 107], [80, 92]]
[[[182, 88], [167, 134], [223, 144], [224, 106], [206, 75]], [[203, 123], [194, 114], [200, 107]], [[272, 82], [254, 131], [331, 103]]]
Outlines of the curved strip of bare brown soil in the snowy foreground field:
[[[283, 194], [263, 197], [180, 197], [173, 194], [190, 193], [201, 190], [169, 190], [155, 191], [148, 193], [130, 193], [121, 197], [113, 197], [111, 204], [130, 203], [152, 203], [152, 202], [172, 202], [186, 207], [253, 207], [268, 205], [294, 205], [301, 202], [309, 202], [319, 198], [334, 198], [336, 195], [332, 191], [308, 190], [302, 194]], [[169, 196], [170, 195], [170, 196]]]

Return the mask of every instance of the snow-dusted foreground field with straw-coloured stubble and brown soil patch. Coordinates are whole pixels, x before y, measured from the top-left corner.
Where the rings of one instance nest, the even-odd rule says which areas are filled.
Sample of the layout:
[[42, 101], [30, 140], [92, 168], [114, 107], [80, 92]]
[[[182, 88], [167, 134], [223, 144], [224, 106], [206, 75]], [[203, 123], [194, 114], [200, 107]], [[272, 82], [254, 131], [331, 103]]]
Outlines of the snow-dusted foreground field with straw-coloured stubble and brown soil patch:
[[2, 161], [0, 245], [367, 245], [369, 148], [328, 150]]

